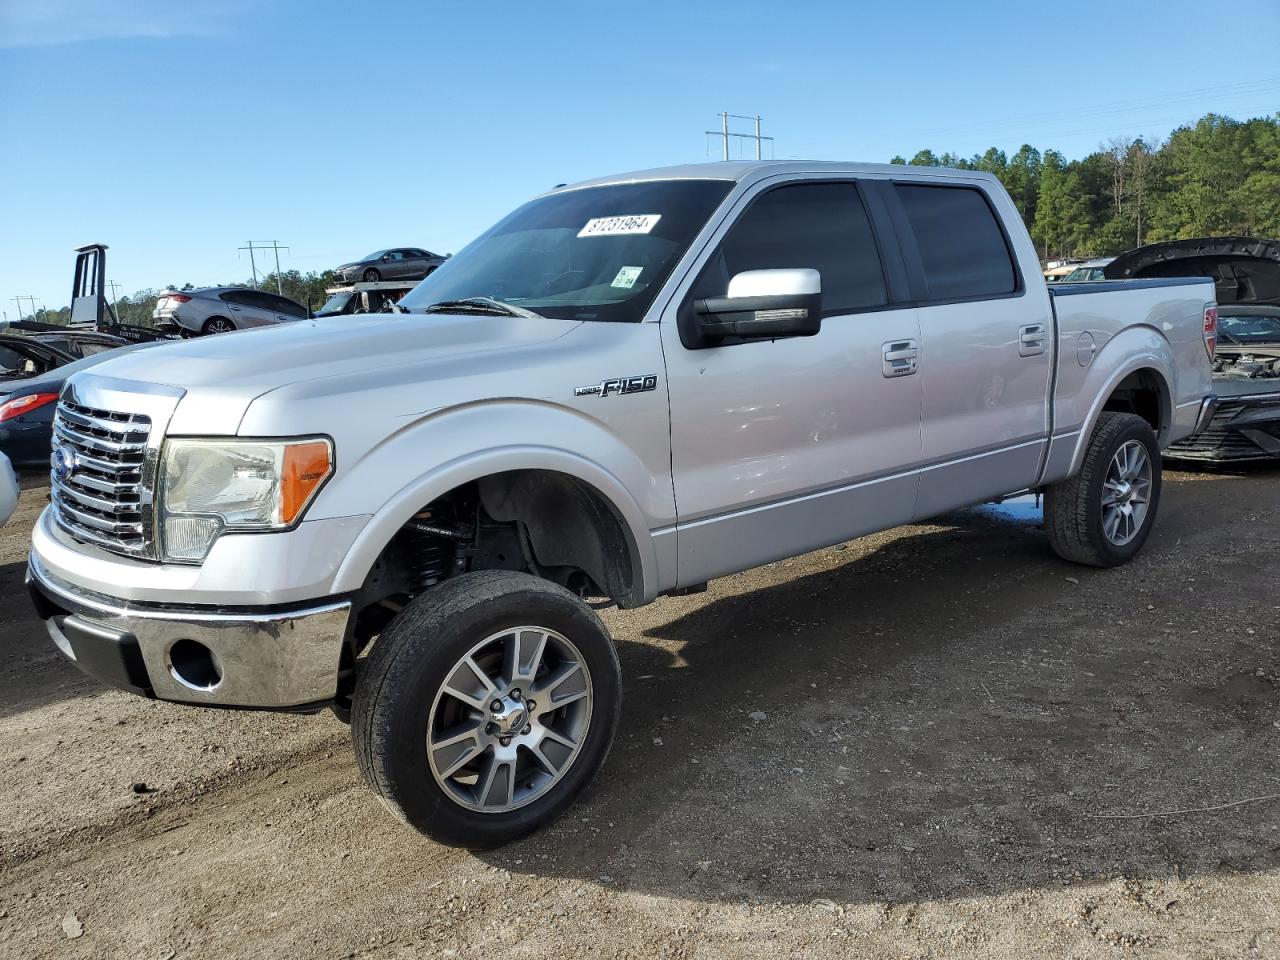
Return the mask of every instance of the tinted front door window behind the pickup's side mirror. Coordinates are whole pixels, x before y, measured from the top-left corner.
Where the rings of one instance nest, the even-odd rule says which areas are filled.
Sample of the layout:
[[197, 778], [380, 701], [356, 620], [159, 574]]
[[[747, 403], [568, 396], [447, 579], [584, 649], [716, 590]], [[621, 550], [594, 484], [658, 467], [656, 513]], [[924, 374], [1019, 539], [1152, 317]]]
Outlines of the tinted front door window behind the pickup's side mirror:
[[733, 224], [699, 287], [722, 296], [745, 270], [812, 268], [823, 316], [888, 302], [876, 237], [852, 183], [796, 183], [760, 196]]

